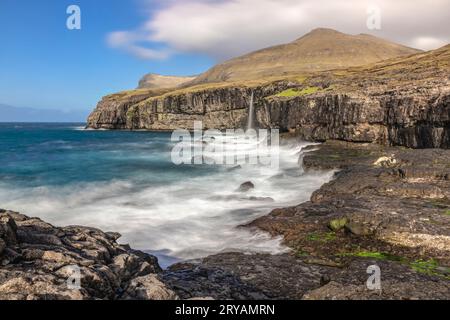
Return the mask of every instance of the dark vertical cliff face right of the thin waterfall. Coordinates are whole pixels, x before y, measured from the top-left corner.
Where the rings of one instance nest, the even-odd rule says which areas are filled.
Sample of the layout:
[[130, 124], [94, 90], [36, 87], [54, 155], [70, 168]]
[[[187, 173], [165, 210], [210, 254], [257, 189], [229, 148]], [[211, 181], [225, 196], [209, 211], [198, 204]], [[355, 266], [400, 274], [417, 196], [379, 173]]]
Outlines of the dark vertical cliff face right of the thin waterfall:
[[279, 127], [305, 140], [377, 142], [412, 148], [450, 147], [450, 90], [325, 93], [262, 103], [262, 127]]

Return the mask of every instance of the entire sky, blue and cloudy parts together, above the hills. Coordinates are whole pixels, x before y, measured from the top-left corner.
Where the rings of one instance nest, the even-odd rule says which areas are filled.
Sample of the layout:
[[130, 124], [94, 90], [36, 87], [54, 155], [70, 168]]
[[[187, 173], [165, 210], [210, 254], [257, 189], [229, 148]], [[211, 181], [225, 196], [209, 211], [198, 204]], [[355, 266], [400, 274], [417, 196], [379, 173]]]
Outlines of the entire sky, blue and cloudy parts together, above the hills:
[[199, 74], [317, 27], [435, 49], [450, 42], [450, 1], [0, 0], [0, 104], [87, 114], [146, 73]]

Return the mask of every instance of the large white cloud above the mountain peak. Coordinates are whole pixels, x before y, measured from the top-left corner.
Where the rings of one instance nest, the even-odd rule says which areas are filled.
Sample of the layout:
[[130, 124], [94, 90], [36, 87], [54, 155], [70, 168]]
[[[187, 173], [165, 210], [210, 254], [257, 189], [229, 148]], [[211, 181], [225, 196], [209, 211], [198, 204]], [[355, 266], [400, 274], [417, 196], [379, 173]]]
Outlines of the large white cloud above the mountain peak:
[[[171, 0], [159, 5], [142, 26], [114, 32], [108, 43], [141, 58], [190, 52], [222, 60], [292, 41], [317, 27], [372, 33], [421, 49], [450, 41], [448, 0]], [[371, 5], [382, 15], [382, 29], [375, 32], [366, 27]], [[152, 43], [169, 49], [144, 46]]]

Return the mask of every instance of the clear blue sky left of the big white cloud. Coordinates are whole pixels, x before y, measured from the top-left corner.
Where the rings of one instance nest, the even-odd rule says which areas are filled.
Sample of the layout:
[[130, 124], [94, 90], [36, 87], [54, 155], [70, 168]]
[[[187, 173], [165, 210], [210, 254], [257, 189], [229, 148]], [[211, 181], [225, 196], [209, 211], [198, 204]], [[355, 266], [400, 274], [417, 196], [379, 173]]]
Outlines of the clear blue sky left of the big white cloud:
[[[81, 30], [66, 28], [71, 4], [81, 8]], [[213, 64], [201, 54], [143, 60], [108, 46], [110, 32], [146, 15], [138, 0], [0, 0], [0, 104], [89, 111], [147, 72], [191, 75]]]

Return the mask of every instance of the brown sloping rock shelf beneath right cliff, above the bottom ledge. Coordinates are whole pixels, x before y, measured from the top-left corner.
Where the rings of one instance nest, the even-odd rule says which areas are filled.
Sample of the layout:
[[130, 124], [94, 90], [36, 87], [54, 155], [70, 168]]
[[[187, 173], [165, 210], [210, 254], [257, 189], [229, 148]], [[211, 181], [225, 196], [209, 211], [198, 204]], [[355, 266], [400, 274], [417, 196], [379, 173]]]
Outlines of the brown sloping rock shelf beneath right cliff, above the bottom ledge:
[[[380, 162], [383, 158], [395, 161]], [[304, 167], [338, 168], [335, 179], [310, 202], [275, 210], [251, 225], [315, 254], [348, 255], [357, 245], [359, 251], [448, 266], [449, 163], [450, 150], [328, 142], [304, 157]]]

